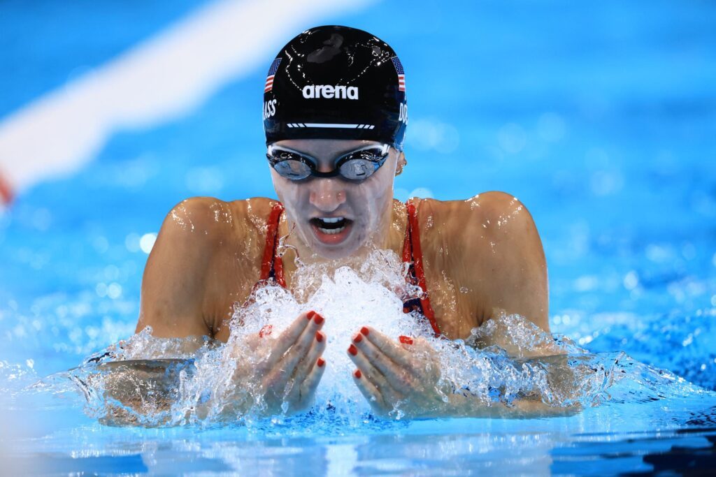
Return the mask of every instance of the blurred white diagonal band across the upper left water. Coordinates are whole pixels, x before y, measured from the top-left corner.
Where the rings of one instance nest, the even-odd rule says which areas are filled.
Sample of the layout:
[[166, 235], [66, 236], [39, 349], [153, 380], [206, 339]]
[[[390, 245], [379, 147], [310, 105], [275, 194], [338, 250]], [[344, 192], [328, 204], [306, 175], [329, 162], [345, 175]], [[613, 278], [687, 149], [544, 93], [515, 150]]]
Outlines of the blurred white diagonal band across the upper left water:
[[[0, 122], [6, 182], [0, 202], [76, 171], [117, 129], [153, 127], [188, 114], [229, 80], [268, 69], [271, 55], [300, 29], [373, 1], [223, 0], [205, 6]], [[255, 103], [247, 99], [236, 107]]]

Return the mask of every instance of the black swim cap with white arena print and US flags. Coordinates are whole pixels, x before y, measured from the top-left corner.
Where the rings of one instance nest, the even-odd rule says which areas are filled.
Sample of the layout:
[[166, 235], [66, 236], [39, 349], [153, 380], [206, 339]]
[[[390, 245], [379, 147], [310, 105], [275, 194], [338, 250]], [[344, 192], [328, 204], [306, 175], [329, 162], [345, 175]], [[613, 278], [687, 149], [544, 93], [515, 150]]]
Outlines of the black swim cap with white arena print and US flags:
[[276, 56], [263, 90], [266, 144], [369, 139], [402, 150], [405, 72], [384, 41], [348, 26], [316, 26]]

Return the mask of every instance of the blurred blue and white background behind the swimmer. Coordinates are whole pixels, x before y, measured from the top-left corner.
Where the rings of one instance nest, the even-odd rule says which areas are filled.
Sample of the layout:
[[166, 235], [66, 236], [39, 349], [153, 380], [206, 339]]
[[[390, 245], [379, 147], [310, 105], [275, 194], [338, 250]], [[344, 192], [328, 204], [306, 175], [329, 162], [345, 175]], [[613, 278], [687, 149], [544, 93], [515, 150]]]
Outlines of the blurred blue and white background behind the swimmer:
[[319, 24], [405, 67], [397, 198], [515, 195], [554, 331], [716, 387], [716, 3], [697, 0], [1, 2], [1, 382], [133, 333], [177, 202], [275, 197], [263, 82]]

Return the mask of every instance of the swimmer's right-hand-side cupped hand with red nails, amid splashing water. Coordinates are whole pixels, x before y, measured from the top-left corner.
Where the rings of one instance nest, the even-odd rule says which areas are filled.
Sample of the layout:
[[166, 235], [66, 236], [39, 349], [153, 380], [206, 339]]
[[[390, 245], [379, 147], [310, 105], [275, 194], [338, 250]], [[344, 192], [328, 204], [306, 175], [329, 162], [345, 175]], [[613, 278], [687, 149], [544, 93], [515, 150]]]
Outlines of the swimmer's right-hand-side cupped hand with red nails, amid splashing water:
[[353, 380], [375, 412], [427, 417], [445, 408], [445, 393], [438, 388], [440, 357], [427, 340], [401, 336], [394, 341], [364, 326], [348, 354], [358, 368]]

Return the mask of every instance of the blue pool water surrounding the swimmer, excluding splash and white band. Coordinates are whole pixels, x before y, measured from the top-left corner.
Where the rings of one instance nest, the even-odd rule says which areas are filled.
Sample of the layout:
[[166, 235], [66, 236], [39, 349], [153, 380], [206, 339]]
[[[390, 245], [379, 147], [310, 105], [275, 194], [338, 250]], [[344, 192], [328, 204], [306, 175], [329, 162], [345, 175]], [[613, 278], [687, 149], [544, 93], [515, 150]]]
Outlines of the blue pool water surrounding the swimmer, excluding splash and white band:
[[[202, 2], [124, 14], [85, 3], [40, 2], [37, 14], [0, 5], [11, 45], [0, 64], [15, 73], [0, 77], [0, 118]], [[133, 333], [141, 239], [175, 203], [274, 196], [261, 161], [261, 68], [160, 127], [116, 131], [87, 167], [32, 187], [0, 215], [7, 466], [265, 475], [716, 468], [716, 6], [384, 1], [321, 19], [332, 22], [381, 36], [405, 65], [410, 164], [396, 196], [516, 195], [545, 247], [552, 331], [591, 353], [624, 351], [698, 390], [622, 395], [559, 418], [168, 429], [102, 426], [79, 395], [26, 390]], [[293, 34], [277, 32], [277, 43]]]

